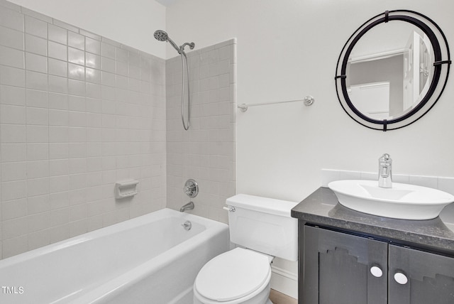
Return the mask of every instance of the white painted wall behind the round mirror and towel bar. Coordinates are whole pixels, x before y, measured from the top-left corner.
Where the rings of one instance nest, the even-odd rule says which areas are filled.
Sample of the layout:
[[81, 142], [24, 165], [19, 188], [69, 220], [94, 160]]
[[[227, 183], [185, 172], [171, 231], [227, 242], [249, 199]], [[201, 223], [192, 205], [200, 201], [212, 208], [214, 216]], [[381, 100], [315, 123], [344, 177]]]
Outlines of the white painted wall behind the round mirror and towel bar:
[[433, 18], [452, 48], [454, 2], [445, 0], [192, 0], [167, 8], [174, 40], [201, 48], [238, 38], [238, 104], [316, 99], [311, 107], [237, 113], [237, 192], [300, 201], [321, 185], [321, 168], [375, 172], [384, 152], [394, 173], [454, 175], [453, 77], [431, 112], [397, 131], [357, 124], [336, 97], [345, 41], [368, 18], [392, 9]]

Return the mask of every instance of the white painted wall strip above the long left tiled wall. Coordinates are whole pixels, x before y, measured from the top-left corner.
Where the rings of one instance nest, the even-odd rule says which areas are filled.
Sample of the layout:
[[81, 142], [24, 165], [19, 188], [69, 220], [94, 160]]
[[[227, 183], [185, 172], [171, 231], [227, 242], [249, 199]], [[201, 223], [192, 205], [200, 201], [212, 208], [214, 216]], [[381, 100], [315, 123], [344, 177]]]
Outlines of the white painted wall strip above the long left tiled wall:
[[11, 0], [97, 35], [165, 58], [165, 43], [155, 40], [165, 30], [165, 6], [153, 0]]

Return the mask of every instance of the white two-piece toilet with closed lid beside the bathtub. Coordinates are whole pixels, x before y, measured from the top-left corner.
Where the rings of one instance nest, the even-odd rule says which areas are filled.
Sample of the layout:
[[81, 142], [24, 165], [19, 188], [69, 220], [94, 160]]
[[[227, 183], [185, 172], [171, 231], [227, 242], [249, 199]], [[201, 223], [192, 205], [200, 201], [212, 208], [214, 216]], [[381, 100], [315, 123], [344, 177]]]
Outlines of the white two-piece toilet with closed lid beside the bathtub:
[[194, 281], [194, 304], [272, 304], [271, 261], [297, 261], [297, 202], [253, 195], [226, 200], [230, 239], [237, 247], [206, 263]]

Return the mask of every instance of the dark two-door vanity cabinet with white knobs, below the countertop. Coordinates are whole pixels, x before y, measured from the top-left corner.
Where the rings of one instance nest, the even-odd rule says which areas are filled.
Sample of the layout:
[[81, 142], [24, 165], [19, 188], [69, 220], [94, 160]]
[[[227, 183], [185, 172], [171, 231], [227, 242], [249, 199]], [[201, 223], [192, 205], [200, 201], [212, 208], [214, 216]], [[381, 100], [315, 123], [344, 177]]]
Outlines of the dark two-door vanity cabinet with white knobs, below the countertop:
[[308, 224], [300, 246], [299, 303], [454, 303], [453, 257]]

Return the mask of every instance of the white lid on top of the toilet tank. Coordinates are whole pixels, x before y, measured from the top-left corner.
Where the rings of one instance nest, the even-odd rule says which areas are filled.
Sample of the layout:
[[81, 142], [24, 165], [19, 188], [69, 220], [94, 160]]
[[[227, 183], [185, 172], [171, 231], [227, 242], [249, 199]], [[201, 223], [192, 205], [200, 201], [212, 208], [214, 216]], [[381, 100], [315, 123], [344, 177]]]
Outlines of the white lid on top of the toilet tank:
[[293, 207], [298, 205], [298, 202], [276, 200], [274, 198], [255, 195], [238, 194], [228, 197], [226, 205], [270, 213], [272, 215], [280, 215], [282, 217], [290, 217], [290, 211]]

